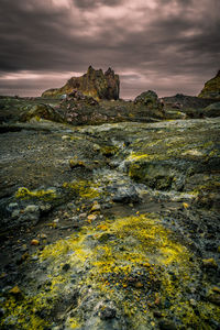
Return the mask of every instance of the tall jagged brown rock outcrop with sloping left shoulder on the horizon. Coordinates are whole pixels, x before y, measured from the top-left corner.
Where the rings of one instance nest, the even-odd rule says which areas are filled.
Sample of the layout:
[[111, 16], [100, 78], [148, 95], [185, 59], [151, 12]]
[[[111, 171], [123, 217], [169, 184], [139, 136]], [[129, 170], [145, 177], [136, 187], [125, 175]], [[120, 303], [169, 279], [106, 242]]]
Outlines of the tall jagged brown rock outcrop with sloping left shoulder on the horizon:
[[42, 97], [61, 97], [73, 90], [81, 91], [86, 96], [97, 99], [118, 100], [120, 80], [119, 76], [109, 68], [105, 74], [102, 69], [96, 70], [92, 66], [81, 77], [72, 77], [62, 88], [53, 88], [44, 91]]

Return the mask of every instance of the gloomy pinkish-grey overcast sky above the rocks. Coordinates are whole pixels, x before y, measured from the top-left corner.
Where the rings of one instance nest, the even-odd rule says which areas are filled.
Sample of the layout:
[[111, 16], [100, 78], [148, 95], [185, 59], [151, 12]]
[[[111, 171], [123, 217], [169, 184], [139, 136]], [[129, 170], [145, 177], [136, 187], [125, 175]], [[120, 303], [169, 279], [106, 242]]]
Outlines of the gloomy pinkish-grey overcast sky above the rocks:
[[1, 0], [0, 95], [40, 96], [89, 65], [120, 97], [198, 95], [220, 69], [219, 0]]

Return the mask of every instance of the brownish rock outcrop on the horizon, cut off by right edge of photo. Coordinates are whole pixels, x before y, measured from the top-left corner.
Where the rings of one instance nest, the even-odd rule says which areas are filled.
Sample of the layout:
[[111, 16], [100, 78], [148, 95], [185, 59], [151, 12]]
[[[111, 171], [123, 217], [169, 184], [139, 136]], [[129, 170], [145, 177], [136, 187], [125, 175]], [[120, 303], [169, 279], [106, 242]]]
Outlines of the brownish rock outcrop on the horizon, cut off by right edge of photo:
[[199, 98], [220, 100], [220, 70], [212, 79], [205, 84], [204, 89], [198, 95]]

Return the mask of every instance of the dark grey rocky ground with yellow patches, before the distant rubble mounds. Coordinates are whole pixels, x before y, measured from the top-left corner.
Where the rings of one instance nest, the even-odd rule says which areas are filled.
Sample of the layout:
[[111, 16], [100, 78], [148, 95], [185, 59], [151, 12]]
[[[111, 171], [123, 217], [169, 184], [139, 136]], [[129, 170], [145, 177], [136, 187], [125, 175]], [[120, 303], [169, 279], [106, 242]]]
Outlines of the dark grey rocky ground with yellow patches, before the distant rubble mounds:
[[1, 329], [219, 329], [219, 118], [12, 127]]

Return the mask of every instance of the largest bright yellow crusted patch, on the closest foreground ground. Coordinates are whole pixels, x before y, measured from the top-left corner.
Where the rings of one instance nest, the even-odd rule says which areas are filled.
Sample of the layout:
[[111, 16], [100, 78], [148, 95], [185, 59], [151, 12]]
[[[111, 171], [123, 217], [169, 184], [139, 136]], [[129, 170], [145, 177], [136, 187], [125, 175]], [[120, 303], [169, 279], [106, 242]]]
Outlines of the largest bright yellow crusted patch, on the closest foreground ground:
[[[103, 234], [107, 239], [100, 240]], [[8, 304], [20, 320], [23, 314], [31, 317], [29, 327], [40, 322], [35, 327], [43, 329], [44, 321], [36, 318], [34, 310], [40, 306], [48, 308], [47, 298], [52, 299], [52, 306], [55, 305], [70, 283], [70, 274], [78, 270], [76, 287], [90, 287], [92, 293], [114, 301], [129, 319], [131, 329], [140, 329], [152, 320], [152, 306], [160, 307], [163, 317], [169, 318], [172, 311], [186, 329], [209, 329], [207, 317], [218, 320], [218, 307], [200, 301], [197, 314], [191, 306], [194, 301], [183, 294], [195, 284], [198, 275], [198, 265], [193, 260], [188, 249], [153, 215], [106, 220], [45, 246], [40, 262], [48, 263], [51, 292], [42, 290], [29, 297], [32, 305], [24, 302], [26, 298], [19, 304], [13, 297]], [[73, 271], [63, 272], [64, 264], [69, 264]], [[58, 274], [54, 276], [54, 273]], [[78, 308], [67, 316], [65, 324], [68, 329], [84, 326]]]

